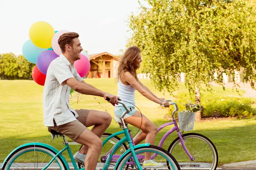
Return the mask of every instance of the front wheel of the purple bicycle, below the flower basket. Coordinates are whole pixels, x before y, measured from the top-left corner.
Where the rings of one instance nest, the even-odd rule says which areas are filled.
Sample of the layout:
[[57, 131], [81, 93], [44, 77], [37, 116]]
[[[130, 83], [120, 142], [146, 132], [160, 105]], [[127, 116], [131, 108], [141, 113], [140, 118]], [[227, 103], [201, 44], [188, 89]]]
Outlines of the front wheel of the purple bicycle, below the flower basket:
[[178, 161], [180, 168], [185, 170], [200, 169], [216, 170], [218, 153], [216, 147], [207, 137], [198, 133], [186, 133], [183, 141], [189, 153], [195, 159], [191, 161], [184, 151], [180, 138], [177, 137], [168, 148], [168, 152]]

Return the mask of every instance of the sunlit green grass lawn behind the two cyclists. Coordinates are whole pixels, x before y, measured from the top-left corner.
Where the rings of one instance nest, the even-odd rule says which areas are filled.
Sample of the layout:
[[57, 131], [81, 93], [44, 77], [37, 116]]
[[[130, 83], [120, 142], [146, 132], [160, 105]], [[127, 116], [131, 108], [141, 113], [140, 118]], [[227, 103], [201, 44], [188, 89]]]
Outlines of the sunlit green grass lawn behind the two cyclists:
[[[114, 79], [86, 79], [85, 81], [103, 91], [117, 94], [117, 82]], [[154, 89], [149, 80], [142, 80], [142, 82], [157, 96], [163, 96], [162, 93]], [[64, 147], [62, 139], [52, 140], [47, 127], [44, 127], [43, 86], [29, 80], [0, 80], [0, 89], [0, 162], [3, 162], [13, 149], [28, 142], [47, 143], [58, 150]], [[175, 94], [181, 91], [187, 91], [184, 84], [180, 85], [180, 89]], [[223, 95], [238, 95], [228, 88], [223, 91], [221, 87], [214, 87], [213, 91]], [[243, 95], [244, 91], [239, 91], [239, 93]], [[164, 119], [167, 113], [166, 108], [160, 108], [158, 104], [148, 101], [137, 92], [135, 96], [136, 105], [140, 108], [140, 111], [151, 119], [157, 127], [169, 122]], [[99, 111], [105, 111], [106, 109], [112, 117], [114, 116], [113, 106], [101, 97], [96, 97], [96, 99], [105, 109], [99, 105], [93, 96], [82, 95], [80, 97], [82, 99], [78, 104], [76, 103], [77, 98], [70, 101], [72, 108], [87, 108]], [[166, 94], [165, 98], [173, 99], [169, 94]], [[132, 130], [132, 134], [135, 134], [138, 130], [137, 128], [129, 127]], [[118, 130], [120, 130], [119, 126], [113, 120], [106, 132], [114, 133]], [[167, 130], [168, 128], [165, 128], [160, 131], [157, 135], [156, 144], [159, 143]], [[201, 133], [212, 140], [218, 150], [219, 164], [256, 159], [256, 117], [198, 122], [195, 123], [192, 132]], [[169, 136], [163, 147], [167, 149], [176, 137], [176, 133]], [[71, 145], [73, 153], [79, 147], [79, 145]], [[64, 156], [67, 158], [67, 153], [64, 153]]]

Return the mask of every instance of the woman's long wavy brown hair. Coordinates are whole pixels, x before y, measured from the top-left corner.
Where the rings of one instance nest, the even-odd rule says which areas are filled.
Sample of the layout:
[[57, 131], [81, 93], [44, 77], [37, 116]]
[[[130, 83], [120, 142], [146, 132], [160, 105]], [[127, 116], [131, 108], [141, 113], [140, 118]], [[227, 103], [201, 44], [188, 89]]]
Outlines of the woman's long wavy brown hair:
[[125, 55], [121, 58], [119, 62], [119, 66], [116, 74], [117, 79], [119, 79], [123, 71], [129, 71], [135, 77], [135, 79], [138, 80], [137, 74], [136, 74], [136, 70], [138, 68], [134, 68], [132, 63], [134, 62], [134, 60], [137, 58], [139, 54], [140, 54], [140, 48], [135, 46], [130, 47], [125, 51]]

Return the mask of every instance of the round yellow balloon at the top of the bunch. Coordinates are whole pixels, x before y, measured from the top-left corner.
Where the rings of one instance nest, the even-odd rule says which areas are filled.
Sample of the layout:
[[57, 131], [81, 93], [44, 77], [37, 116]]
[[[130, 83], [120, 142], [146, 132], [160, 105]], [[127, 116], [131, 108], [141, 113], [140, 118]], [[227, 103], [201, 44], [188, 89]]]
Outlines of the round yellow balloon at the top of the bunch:
[[38, 21], [29, 28], [30, 40], [40, 48], [50, 48], [54, 34], [53, 27], [45, 21]]

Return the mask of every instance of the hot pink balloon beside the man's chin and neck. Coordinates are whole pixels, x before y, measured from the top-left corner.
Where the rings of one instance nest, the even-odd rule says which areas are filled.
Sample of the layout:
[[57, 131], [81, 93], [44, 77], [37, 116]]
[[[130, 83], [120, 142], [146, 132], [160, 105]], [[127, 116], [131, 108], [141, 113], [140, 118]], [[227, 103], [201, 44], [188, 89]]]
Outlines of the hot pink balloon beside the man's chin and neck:
[[90, 71], [90, 61], [89, 59], [83, 55], [83, 54], [80, 54], [80, 57], [81, 59], [79, 60], [76, 60], [74, 65], [75, 65], [75, 68], [76, 68], [76, 71], [77, 73], [81, 76], [81, 77], [84, 77], [86, 76], [89, 71]]

